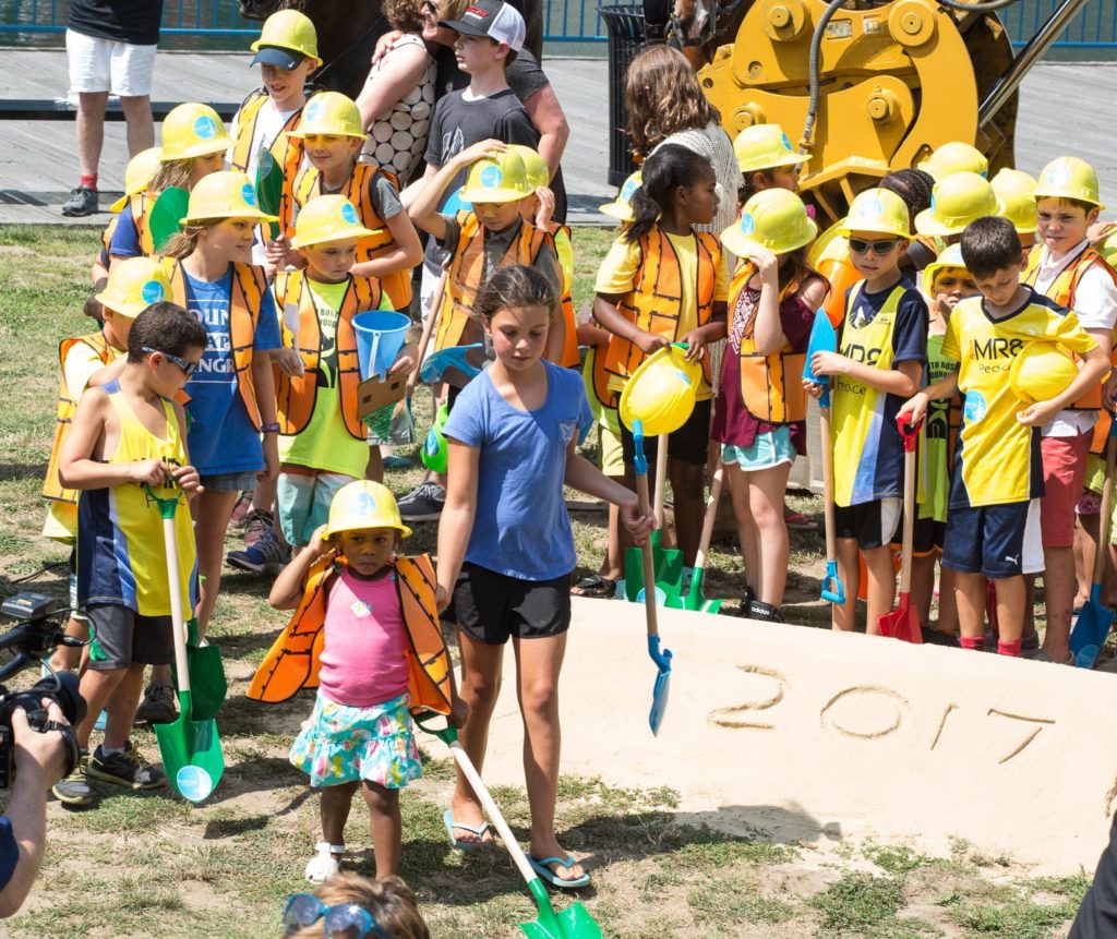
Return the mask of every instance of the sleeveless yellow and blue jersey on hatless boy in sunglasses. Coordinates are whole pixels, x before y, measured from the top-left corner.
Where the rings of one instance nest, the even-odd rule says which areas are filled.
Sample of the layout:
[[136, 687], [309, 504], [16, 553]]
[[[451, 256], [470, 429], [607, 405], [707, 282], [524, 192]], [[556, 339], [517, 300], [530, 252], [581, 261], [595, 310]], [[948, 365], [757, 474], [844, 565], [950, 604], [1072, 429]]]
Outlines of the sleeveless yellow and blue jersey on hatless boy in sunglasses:
[[[120, 444], [106, 462], [159, 459], [178, 466], [187, 463], [185, 440], [173, 402], [163, 401], [166, 433], [159, 438], [135, 415], [118, 382], [104, 385], [103, 391], [121, 425]], [[155, 490], [160, 497], [176, 491], [173, 487]], [[170, 615], [163, 519], [157, 507], [149, 502], [146, 490], [134, 482], [86, 489], [78, 498], [77, 516], [78, 602], [127, 606], [143, 616]], [[179, 588], [187, 611], [191, 611], [198, 602], [198, 571], [194, 530], [185, 505], [179, 507], [174, 517], [174, 531], [179, 547]]]

